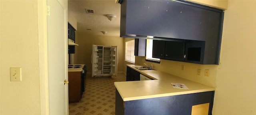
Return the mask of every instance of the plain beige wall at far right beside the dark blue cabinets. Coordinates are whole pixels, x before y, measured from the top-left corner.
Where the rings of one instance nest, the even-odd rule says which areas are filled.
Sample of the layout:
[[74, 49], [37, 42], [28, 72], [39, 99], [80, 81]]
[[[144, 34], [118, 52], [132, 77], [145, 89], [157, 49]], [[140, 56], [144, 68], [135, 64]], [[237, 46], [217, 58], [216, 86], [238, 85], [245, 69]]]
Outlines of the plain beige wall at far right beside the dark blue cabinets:
[[256, 115], [256, 0], [229, 0], [224, 14], [214, 115]]

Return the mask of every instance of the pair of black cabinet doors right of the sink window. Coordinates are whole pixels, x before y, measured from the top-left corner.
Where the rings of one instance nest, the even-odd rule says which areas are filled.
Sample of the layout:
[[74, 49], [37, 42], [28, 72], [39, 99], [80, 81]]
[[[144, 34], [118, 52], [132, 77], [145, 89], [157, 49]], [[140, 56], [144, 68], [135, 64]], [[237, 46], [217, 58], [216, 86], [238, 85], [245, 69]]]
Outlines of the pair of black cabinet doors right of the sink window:
[[153, 40], [152, 57], [184, 61], [185, 42]]

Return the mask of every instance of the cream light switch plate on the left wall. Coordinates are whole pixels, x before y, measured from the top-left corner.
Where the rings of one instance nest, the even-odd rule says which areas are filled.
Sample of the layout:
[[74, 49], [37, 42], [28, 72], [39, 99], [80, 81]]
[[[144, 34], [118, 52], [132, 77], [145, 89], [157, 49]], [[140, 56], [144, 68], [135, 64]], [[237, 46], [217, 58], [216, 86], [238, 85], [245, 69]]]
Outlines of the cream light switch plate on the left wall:
[[10, 67], [11, 81], [22, 81], [21, 67]]

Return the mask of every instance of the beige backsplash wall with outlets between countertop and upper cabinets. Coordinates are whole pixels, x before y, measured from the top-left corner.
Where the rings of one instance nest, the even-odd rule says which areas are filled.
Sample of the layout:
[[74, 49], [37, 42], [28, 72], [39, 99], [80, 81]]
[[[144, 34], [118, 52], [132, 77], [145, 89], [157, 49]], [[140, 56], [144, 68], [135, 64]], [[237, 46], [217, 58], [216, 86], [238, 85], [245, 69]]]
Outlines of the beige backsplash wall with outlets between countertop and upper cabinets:
[[[159, 71], [163, 71], [166, 73], [170, 73], [172, 75], [177, 75], [179, 77], [183, 77], [185, 79], [189, 79], [191, 81], [196, 81], [198, 83], [202, 83], [208, 86], [215, 87], [216, 81], [216, 71], [218, 65], [200, 65], [194, 63], [186, 63], [180, 61], [170, 61], [160, 59], [160, 63], [152, 63], [149, 61], [145, 61], [146, 57], [135, 57], [135, 63], [138, 65], [143, 65], [146, 63], [147, 65], [153, 65], [153, 68]], [[182, 70], [182, 65], [184, 65], [184, 70]], [[201, 69], [201, 75], [197, 75], [197, 69]], [[204, 69], [210, 69], [210, 75], [204, 76]]]

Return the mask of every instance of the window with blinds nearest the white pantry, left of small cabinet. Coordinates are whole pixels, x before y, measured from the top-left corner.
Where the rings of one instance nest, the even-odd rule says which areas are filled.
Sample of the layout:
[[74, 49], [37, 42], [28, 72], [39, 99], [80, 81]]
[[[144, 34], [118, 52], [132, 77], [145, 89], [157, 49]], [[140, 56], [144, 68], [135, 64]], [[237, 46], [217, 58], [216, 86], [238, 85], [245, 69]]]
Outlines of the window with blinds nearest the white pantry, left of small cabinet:
[[125, 42], [125, 61], [135, 63], [134, 40]]

